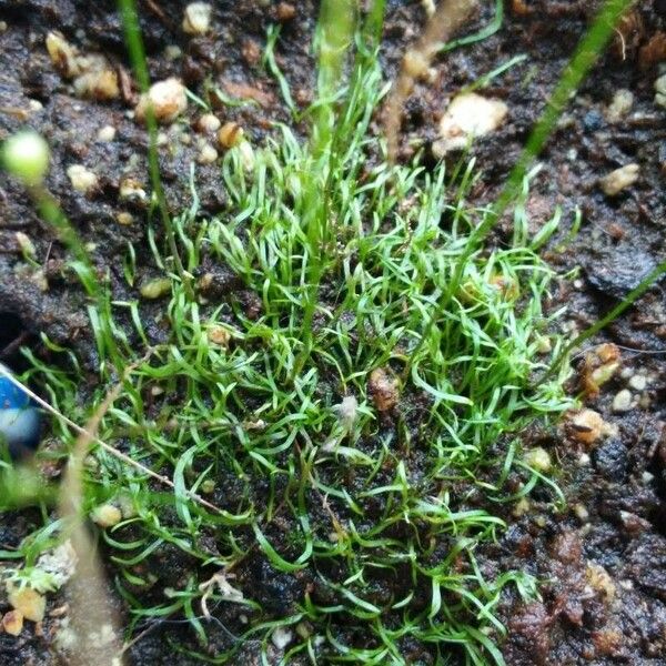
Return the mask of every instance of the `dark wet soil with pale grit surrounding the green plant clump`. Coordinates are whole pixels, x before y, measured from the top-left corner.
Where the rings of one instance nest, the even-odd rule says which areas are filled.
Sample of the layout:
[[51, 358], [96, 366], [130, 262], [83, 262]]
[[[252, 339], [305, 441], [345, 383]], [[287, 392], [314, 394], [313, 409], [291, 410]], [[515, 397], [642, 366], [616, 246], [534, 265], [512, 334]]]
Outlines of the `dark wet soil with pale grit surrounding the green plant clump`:
[[[287, 3], [216, 2], [210, 37], [194, 39], [180, 30], [184, 4], [174, 0], [139, 2], [153, 79], [181, 77], [199, 95], [206, 94], [206, 82], [212, 81], [230, 97], [253, 98], [258, 103], [233, 108], [213, 98], [211, 101], [224, 121], [238, 121], [252, 141], [259, 142], [270, 131], [272, 120], [289, 120], [275, 81], [258, 59], [266, 27], [280, 23], [279, 64], [296, 103], [305, 105], [312, 99], [314, 3], [294, 2], [291, 16], [284, 11]], [[402, 155], [408, 157], [414, 147], [424, 147], [427, 155], [436, 138], [437, 120], [451, 97], [507, 59], [527, 54], [521, 65], [509, 69], [483, 92], [508, 104], [509, 120], [475, 148], [484, 173], [474, 193], [478, 202], [491, 201], [502, 186], [598, 6], [584, 0], [513, 0], [506, 4], [501, 31], [435, 63], [436, 74], [416, 87], [403, 123]], [[382, 57], [391, 74], [406, 44], [420, 33], [425, 14], [418, 2], [390, 1], [387, 6]], [[470, 31], [486, 24], [492, 13], [492, 8], [484, 6]], [[109, 273], [118, 297], [134, 297], [122, 275], [122, 259], [128, 244], [134, 244], [140, 271], [150, 274], [145, 238], [150, 213], [141, 202], [120, 201], [119, 190], [123, 178], [134, 178], [149, 190], [145, 133], [128, 113], [132, 109], [131, 94], [113, 102], [75, 98], [44, 49], [47, 32], [60, 30], [82, 51], [102, 52], [114, 67], [129, 71], [114, 3], [0, 0], [0, 139], [26, 125], [44, 134], [53, 150], [49, 190], [90, 244], [100, 272]], [[665, 30], [666, 7], [662, 0], [636, 4], [608, 53], [572, 100], [533, 181], [527, 210], [535, 229], [559, 205], [564, 236], [574, 211], [582, 211], [578, 235], [564, 250], [556, 243], [545, 253], [559, 272], [579, 270], [576, 280], [562, 281], [549, 304], [553, 309], [567, 305], [565, 321], [572, 331], [584, 330], [596, 321], [635, 286], [649, 266], [666, 258], [666, 111], [654, 102], [654, 81], [659, 59], [664, 58], [656, 36]], [[175, 58], [168, 49], [173, 44], [181, 50]], [[634, 103], [624, 118], [612, 122], [609, 105], [619, 89], [629, 90]], [[200, 114], [201, 110], [190, 103], [185, 122], [163, 130], [169, 148], [160, 153], [160, 167], [172, 211], [191, 203], [190, 163], [196, 161], [199, 152], [194, 124]], [[97, 140], [104, 125], [115, 128], [111, 142]], [[639, 164], [638, 181], [615, 198], [605, 195], [598, 179], [632, 162]], [[94, 192], [72, 190], [65, 174], [72, 163], [95, 171], [99, 184]], [[63, 269], [64, 250], [39, 220], [21, 186], [4, 176], [0, 179], [0, 352], [9, 345], [6, 359], [18, 361], [18, 345], [13, 343], [20, 339], [20, 344], [29, 344], [38, 356], [48, 360], [49, 351], [39, 339], [46, 333], [53, 342], [74, 350], [92, 372], [97, 355], [88, 331], [85, 299], [77, 280]], [[199, 164], [196, 185], [201, 214], [220, 211], [225, 193], [218, 168]], [[132, 224], [119, 224], [118, 214], [122, 212], [133, 215]], [[495, 242], [502, 243], [508, 229], [508, 222], [502, 224]], [[23, 261], [18, 231], [32, 240], [43, 270]], [[222, 290], [233, 289], [223, 275], [220, 284]], [[557, 458], [557, 481], [566, 508], [554, 512], [549, 494], [534, 494], [522, 515], [506, 511], [506, 535], [477, 554], [482, 571], [491, 577], [498, 571], [516, 568], [543, 582], [539, 602], [504, 599], [507, 636], [500, 640], [511, 665], [666, 665], [663, 286], [652, 289], [595, 343], [603, 341], [620, 345], [622, 370], [596, 397], [587, 400], [587, 406], [615, 424], [616, 435], [589, 451], [557, 428], [526, 433], [527, 443], [547, 447]], [[636, 376], [646, 379], [644, 387]], [[572, 381], [571, 390], [577, 389]], [[613, 401], [625, 389], [632, 393], [632, 406], [614, 411]], [[480, 497], [478, 504], [483, 501]], [[30, 512], [6, 514], [0, 522], [0, 544], [16, 545], [38, 521], [39, 516]], [[182, 554], [169, 548], [155, 553], [152, 562], [161, 572], [163, 586], [175, 586], [189, 565]], [[266, 608], [289, 613], [302, 598], [307, 581], [276, 576], [264, 564], [259, 558], [248, 562], [238, 573], [239, 584], [259, 591]], [[210, 628], [211, 656], [233, 642], [224, 627], [242, 632], [232, 608], [221, 606], [216, 617], [221, 624]], [[58, 663], [46, 625], [42, 630], [24, 632], [19, 639], [0, 633], [1, 663]], [[178, 622], [142, 626], [141, 632], [130, 650], [133, 664], [173, 663], [169, 640], [196, 648], [189, 629]], [[254, 663], [255, 647], [248, 644], [235, 659], [238, 664]], [[431, 662], [432, 656], [420, 648], [414, 652], [413, 663]], [[188, 657], [179, 657], [178, 663], [189, 663]]]

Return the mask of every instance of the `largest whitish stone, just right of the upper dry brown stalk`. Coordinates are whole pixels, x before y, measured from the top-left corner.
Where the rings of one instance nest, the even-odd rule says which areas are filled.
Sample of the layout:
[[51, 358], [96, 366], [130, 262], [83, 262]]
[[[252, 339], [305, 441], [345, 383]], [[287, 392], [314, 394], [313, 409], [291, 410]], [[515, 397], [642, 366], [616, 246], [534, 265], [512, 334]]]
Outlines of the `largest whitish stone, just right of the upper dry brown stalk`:
[[435, 157], [465, 148], [477, 137], [490, 134], [506, 120], [508, 107], [501, 100], [486, 99], [475, 92], [458, 94], [448, 104], [440, 122], [440, 141], [433, 145]]

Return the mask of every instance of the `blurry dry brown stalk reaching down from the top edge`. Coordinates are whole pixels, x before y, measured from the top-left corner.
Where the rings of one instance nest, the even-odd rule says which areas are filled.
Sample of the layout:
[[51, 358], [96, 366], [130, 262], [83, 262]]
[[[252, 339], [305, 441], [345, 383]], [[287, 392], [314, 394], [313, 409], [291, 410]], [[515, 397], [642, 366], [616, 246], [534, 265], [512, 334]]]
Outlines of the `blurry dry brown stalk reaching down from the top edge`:
[[414, 89], [414, 83], [427, 74], [441, 46], [465, 23], [476, 6], [477, 0], [444, 0], [427, 22], [424, 33], [403, 56], [400, 74], [384, 109], [384, 130], [390, 162], [395, 162], [397, 158], [402, 111]]

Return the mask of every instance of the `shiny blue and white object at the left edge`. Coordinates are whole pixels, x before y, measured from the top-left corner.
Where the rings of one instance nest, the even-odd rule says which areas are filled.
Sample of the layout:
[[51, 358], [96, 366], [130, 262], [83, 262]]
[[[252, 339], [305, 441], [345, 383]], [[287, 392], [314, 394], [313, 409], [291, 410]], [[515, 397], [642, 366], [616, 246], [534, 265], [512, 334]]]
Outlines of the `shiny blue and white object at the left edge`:
[[[2, 363], [0, 367], [11, 373]], [[7, 446], [11, 457], [21, 457], [39, 446], [40, 433], [38, 405], [24, 391], [0, 375], [0, 450]]]

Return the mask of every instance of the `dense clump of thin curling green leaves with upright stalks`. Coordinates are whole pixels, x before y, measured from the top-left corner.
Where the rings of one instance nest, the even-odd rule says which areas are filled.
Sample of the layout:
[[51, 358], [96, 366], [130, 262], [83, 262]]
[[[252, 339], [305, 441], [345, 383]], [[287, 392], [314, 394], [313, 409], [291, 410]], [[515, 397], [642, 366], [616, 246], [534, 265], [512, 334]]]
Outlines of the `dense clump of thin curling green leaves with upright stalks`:
[[[145, 88], [133, 7], [122, 7]], [[536, 582], [511, 571], [488, 577], [475, 552], [504, 528], [495, 506], [536, 483], [562, 501], [522, 460], [518, 441], [533, 420], [571, 404], [561, 389], [567, 347], [551, 327], [558, 313], [542, 310], [553, 272], [537, 254], [558, 214], [529, 238], [528, 159], [491, 209], [470, 202], [473, 161], [451, 174], [417, 160], [387, 165], [370, 131], [386, 90], [376, 60], [383, 2], [357, 30], [352, 2], [332, 8], [324, 3], [319, 33], [310, 142], [276, 125], [251, 169], [232, 149], [220, 216], [199, 215], [194, 178], [191, 210], [165, 212], [151, 141], [161, 226], [151, 226], [149, 246], [170, 281], [160, 322], [168, 341], [151, 344], [139, 299], [91, 306], [103, 363], [85, 402], [75, 361], [69, 373], [32, 361], [51, 404], [77, 422], [135, 364], [99, 434], [144, 470], [120, 464], [111, 444], [100, 447], [84, 497], [87, 512], [122, 508], [102, 538], [131, 608], [130, 633], [181, 615], [205, 643], [210, 608], [233, 604], [248, 625], [236, 622], [228, 648], [202, 658], [229, 662], [238, 635], [258, 640], [268, 660], [271, 636], [289, 629], [285, 663], [303, 655], [400, 664], [414, 643], [438, 663], [461, 655], [502, 663], [501, 595], [513, 586], [534, 597]], [[596, 34], [589, 44], [598, 52]], [[270, 32], [265, 64], [285, 89], [276, 39]], [[565, 78], [559, 101], [586, 67]], [[529, 159], [553, 122], [548, 112]], [[509, 203], [513, 242], [485, 246]], [[233, 275], [225, 299], [209, 295], [218, 279], [211, 266]], [[132, 285], [140, 270], [132, 250], [124, 268]], [[115, 322], [120, 313], [133, 330]], [[544, 354], [546, 336], [553, 350]], [[72, 441], [63, 423], [54, 434]], [[52, 544], [54, 525], [47, 521], [14, 555]], [[162, 578], [167, 549], [189, 563], [178, 585]], [[264, 591], [248, 583], [250, 565], [301, 582], [289, 613], [265, 605]]]

